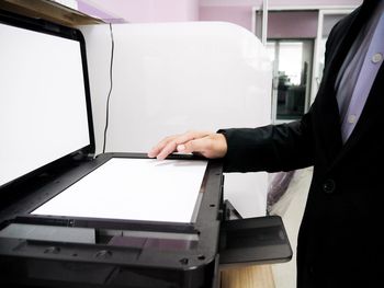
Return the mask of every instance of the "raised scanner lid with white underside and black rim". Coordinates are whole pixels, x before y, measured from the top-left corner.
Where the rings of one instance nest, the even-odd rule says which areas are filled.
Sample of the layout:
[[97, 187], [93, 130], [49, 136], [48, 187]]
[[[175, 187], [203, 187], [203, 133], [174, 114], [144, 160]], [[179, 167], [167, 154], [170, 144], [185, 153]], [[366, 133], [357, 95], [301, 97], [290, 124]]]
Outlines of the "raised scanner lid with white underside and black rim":
[[0, 188], [94, 153], [77, 28], [0, 10]]

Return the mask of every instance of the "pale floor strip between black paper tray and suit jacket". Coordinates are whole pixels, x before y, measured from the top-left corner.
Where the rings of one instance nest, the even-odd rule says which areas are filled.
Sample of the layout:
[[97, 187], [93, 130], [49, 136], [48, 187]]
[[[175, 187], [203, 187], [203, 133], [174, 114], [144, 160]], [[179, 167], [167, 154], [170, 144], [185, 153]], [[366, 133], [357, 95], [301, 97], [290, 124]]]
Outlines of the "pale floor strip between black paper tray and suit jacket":
[[282, 217], [294, 253], [294, 256], [290, 262], [272, 265], [275, 288], [296, 287], [295, 254], [297, 232], [309, 189], [312, 172], [312, 168], [297, 170], [291, 180], [285, 194], [271, 210], [271, 214], [280, 215]]

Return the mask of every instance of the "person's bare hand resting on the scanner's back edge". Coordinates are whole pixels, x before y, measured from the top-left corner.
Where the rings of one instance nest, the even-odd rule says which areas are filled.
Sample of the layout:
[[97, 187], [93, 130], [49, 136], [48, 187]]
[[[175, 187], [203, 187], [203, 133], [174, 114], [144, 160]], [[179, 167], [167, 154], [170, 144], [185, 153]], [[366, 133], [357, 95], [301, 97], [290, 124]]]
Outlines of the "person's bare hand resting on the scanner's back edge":
[[148, 152], [148, 157], [163, 160], [176, 151], [199, 153], [211, 159], [223, 158], [227, 153], [227, 140], [222, 134], [188, 131], [165, 138]]

